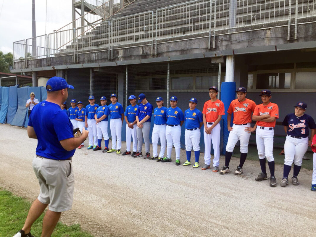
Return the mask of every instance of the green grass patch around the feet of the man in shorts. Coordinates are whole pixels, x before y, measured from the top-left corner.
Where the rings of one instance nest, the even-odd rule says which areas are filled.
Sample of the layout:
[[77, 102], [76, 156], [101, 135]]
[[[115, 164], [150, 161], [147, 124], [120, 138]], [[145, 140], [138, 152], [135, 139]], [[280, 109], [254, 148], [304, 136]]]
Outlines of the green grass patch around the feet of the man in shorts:
[[[31, 206], [27, 200], [12, 195], [11, 192], [0, 188], [0, 237], [14, 236], [24, 225], [28, 210]], [[34, 222], [31, 233], [39, 237], [42, 233], [42, 222], [45, 212]], [[52, 237], [93, 237], [81, 230], [79, 224], [67, 226], [58, 222]]]

